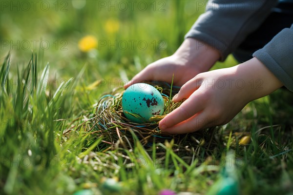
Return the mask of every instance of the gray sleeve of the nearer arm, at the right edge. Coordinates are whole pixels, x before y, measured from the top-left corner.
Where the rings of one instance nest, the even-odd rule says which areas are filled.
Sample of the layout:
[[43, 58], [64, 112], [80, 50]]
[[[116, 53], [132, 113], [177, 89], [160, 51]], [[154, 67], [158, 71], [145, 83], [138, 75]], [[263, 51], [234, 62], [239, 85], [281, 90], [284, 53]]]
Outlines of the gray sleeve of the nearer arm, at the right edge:
[[293, 91], [293, 24], [253, 53], [290, 91]]

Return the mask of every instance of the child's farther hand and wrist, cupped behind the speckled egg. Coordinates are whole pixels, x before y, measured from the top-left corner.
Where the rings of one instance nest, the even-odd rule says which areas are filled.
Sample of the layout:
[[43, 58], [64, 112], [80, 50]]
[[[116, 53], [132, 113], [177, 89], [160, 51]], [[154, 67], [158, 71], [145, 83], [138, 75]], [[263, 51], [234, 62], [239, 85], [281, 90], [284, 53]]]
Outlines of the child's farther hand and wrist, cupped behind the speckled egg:
[[173, 74], [173, 84], [182, 86], [197, 74], [208, 71], [217, 59], [219, 59], [217, 50], [196, 39], [188, 38], [172, 56], [149, 64], [126, 83], [125, 88], [144, 80], [171, 83]]

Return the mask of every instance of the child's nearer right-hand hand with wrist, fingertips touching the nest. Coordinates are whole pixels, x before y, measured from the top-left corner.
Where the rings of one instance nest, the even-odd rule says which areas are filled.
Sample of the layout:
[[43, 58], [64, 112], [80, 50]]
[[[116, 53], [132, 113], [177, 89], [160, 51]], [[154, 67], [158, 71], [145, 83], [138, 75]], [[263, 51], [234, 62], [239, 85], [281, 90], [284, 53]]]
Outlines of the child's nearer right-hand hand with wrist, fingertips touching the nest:
[[243, 64], [197, 75], [182, 86], [173, 101], [184, 101], [159, 127], [171, 134], [194, 132], [228, 123], [251, 100], [282, 83], [256, 58]]

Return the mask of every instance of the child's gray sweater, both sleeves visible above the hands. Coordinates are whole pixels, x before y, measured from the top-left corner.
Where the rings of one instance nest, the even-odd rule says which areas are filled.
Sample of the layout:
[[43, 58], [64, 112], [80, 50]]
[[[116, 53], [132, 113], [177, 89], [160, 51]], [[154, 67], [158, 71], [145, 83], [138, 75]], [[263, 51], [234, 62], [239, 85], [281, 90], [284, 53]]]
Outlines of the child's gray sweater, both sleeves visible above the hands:
[[[221, 61], [268, 17], [277, 0], [209, 0], [207, 11], [193, 24], [185, 38], [201, 40], [220, 51]], [[272, 26], [273, 28], [273, 26]], [[279, 32], [253, 53], [293, 91], [293, 25]]]

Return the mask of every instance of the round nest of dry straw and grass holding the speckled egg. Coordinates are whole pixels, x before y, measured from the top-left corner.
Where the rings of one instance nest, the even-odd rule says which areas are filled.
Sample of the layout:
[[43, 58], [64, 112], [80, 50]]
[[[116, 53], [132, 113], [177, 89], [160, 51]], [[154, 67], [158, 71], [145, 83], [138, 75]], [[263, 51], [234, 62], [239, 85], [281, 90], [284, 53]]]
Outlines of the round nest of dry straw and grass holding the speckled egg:
[[[158, 89], [165, 101], [165, 111], [162, 116], [151, 117], [149, 121], [143, 124], [134, 123], [128, 120], [122, 110], [122, 96], [125, 91], [124, 88], [114, 89], [111, 93], [104, 95], [94, 108], [94, 112], [83, 116], [86, 118], [82, 124], [76, 125], [73, 128], [81, 130], [86, 129], [91, 137], [88, 139], [88, 144], [93, 143], [97, 138], [103, 137], [100, 144], [100, 149], [106, 148], [115, 149], [119, 145], [124, 148], [131, 149], [135, 145], [135, 141], [139, 140], [146, 148], [153, 145], [153, 143], [164, 143], [166, 140], [173, 139], [174, 144], [185, 152], [191, 152], [190, 148], [210, 147], [217, 145], [217, 141], [213, 139], [215, 128], [205, 129], [190, 134], [171, 135], [161, 132], [158, 124], [168, 113], [178, 108], [182, 102], [173, 102], [171, 99], [180, 90], [180, 87], [171, 86], [166, 82], [147, 82]], [[79, 120], [80, 121], [80, 120]], [[71, 128], [71, 129], [73, 129]], [[66, 131], [63, 135], [68, 135]], [[88, 135], [87, 134], [87, 135]], [[206, 141], [209, 140], [209, 141]], [[109, 147], [110, 146], [110, 147]], [[100, 150], [99, 149], [99, 150]], [[194, 152], [192, 149], [192, 151]]]

